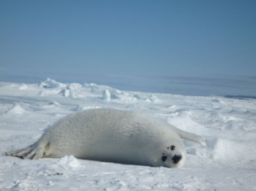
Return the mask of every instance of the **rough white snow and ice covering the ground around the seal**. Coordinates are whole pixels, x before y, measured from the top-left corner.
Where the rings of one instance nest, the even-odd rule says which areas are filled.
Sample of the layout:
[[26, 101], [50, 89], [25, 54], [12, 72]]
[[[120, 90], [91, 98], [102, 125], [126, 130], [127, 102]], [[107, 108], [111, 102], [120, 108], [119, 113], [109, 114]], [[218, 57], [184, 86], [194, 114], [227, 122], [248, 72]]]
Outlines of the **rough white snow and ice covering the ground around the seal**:
[[256, 100], [120, 91], [97, 84], [0, 82], [0, 153], [35, 142], [59, 118], [115, 108], [144, 113], [196, 133], [184, 140], [184, 167], [81, 160], [21, 160], [0, 155], [0, 190], [256, 190]]

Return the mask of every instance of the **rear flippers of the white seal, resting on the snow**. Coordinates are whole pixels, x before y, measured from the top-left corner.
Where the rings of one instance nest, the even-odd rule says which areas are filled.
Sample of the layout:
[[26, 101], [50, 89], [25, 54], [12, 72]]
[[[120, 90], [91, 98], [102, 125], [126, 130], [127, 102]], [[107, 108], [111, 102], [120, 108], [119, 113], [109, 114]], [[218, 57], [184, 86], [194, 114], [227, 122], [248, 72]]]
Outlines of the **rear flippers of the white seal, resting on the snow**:
[[23, 149], [19, 149], [17, 151], [11, 151], [4, 153], [6, 156], [16, 156], [19, 158], [26, 159], [39, 159], [44, 155], [45, 149], [43, 147], [36, 146], [35, 144], [25, 147]]

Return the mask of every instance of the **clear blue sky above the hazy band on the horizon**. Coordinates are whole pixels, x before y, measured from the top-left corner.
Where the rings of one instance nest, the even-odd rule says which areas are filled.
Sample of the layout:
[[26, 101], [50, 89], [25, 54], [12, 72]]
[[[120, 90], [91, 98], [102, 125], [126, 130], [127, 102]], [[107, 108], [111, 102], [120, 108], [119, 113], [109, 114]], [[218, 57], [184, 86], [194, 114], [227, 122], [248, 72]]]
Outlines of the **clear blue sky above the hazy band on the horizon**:
[[0, 73], [256, 76], [255, 0], [1, 0]]

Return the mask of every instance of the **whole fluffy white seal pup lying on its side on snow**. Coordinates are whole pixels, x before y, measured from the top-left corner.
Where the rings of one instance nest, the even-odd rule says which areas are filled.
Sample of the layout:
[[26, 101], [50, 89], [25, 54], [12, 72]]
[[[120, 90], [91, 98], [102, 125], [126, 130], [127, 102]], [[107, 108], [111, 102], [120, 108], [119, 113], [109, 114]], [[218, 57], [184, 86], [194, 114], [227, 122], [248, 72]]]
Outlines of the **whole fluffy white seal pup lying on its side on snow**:
[[185, 160], [181, 138], [205, 146], [199, 136], [146, 115], [92, 109], [62, 118], [31, 146], [5, 154], [30, 159], [74, 155], [105, 162], [181, 167]]

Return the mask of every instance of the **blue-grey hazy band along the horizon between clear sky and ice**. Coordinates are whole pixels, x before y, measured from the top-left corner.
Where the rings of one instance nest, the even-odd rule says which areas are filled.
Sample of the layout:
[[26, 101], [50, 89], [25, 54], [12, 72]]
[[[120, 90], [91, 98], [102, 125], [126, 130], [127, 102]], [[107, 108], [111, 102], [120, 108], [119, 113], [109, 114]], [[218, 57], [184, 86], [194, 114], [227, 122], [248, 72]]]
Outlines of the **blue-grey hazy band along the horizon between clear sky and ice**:
[[[0, 81], [37, 83], [46, 74], [14, 75], [0, 71]], [[120, 90], [168, 93], [194, 96], [227, 96], [229, 98], [256, 98], [256, 76], [142, 76], [142, 75], [79, 75], [48, 73], [47, 77], [60, 82], [96, 83]]]

